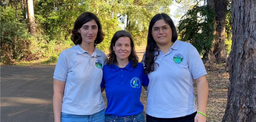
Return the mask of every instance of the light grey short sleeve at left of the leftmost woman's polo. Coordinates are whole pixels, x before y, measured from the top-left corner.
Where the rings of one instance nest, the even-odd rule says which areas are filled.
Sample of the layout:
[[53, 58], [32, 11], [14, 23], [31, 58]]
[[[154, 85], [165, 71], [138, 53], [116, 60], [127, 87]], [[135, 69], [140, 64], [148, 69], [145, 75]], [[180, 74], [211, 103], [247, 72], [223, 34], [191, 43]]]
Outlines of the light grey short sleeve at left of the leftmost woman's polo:
[[53, 78], [59, 81], [66, 81], [67, 75], [68, 75], [68, 61], [63, 55], [63, 53], [60, 53], [57, 64], [55, 66]]

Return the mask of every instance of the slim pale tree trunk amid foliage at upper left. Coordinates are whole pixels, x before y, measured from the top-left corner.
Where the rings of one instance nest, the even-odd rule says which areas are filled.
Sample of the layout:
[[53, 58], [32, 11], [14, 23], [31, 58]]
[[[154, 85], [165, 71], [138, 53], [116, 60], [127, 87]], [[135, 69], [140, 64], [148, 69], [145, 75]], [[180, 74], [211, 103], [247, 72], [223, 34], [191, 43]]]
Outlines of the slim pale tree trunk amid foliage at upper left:
[[34, 35], [36, 33], [36, 27], [35, 27], [33, 0], [27, 0], [27, 9], [28, 9], [28, 20], [29, 20], [29, 32], [31, 33], [31, 35]]

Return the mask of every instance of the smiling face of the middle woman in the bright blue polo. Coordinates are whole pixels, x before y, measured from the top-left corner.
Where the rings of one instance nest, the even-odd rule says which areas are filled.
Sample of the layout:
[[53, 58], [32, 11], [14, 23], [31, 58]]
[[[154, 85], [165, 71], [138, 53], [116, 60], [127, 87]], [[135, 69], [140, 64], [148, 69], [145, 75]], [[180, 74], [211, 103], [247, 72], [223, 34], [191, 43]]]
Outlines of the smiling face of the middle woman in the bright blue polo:
[[131, 54], [131, 40], [129, 37], [120, 37], [113, 46], [118, 61], [127, 60]]

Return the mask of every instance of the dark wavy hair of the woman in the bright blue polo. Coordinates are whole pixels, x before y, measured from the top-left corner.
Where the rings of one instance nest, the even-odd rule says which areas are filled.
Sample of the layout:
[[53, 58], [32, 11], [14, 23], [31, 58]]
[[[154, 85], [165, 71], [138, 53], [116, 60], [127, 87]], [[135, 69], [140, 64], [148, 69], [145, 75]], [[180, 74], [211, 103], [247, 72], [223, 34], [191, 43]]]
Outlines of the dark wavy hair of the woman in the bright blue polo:
[[130, 38], [131, 41], [131, 54], [129, 56], [129, 61], [132, 61], [131, 66], [134, 68], [138, 64], [138, 56], [136, 55], [135, 49], [134, 49], [134, 43], [133, 43], [133, 38], [131, 36], [131, 33], [125, 30], [119, 30], [115, 32], [114, 36], [111, 39], [110, 43], [110, 48], [109, 51], [110, 53], [107, 55], [107, 64], [118, 64], [118, 60], [116, 59], [116, 55], [113, 49], [113, 46], [115, 46], [115, 42], [118, 41], [118, 38], [120, 37], [128, 37]]

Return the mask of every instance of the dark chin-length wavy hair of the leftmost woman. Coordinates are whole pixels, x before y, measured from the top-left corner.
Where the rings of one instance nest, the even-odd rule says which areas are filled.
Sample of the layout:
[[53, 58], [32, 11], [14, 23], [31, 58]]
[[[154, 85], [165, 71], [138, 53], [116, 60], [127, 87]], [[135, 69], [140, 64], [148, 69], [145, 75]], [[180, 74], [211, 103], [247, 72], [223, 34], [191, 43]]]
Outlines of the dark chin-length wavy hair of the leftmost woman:
[[71, 40], [73, 41], [73, 43], [75, 45], [82, 43], [82, 37], [81, 37], [81, 34], [78, 32], [78, 29], [82, 28], [84, 23], [87, 23], [91, 20], [95, 20], [95, 22], [98, 25], [98, 33], [97, 33], [97, 37], [94, 41], [94, 46], [96, 46], [97, 44], [99, 44], [103, 41], [105, 34], [102, 32], [102, 25], [99, 21], [99, 18], [97, 18], [97, 16], [94, 15], [93, 13], [85, 12], [85, 13], [82, 13], [81, 15], [79, 15], [74, 23]]

